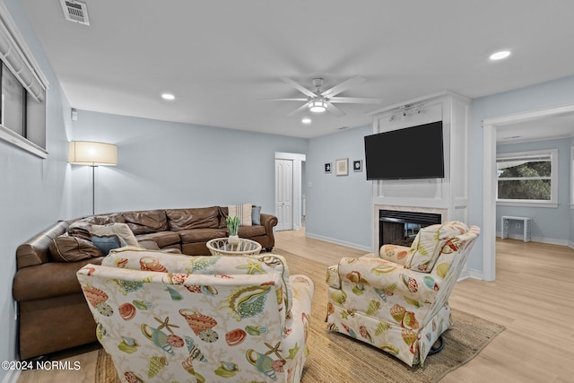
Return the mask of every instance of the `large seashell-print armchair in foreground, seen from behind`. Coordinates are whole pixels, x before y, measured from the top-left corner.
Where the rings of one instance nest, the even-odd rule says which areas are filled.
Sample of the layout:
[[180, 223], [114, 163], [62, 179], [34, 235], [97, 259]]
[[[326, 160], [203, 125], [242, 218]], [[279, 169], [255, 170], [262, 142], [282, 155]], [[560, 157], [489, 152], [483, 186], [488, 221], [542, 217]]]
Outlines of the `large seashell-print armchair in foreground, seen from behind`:
[[313, 283], [281, 256], [127, 247], [77, 276], [122, 381], [300, 381]]

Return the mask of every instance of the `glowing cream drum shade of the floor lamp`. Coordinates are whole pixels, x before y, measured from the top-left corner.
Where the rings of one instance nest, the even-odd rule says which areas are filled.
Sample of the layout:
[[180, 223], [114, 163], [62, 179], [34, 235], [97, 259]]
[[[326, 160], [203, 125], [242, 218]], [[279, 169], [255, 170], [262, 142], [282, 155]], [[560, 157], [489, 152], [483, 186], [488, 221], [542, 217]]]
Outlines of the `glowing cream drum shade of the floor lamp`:
[[117, 146], [91, 141], [72, 141], [70, 142], [68, 162], [89, 166], [117, 165]]

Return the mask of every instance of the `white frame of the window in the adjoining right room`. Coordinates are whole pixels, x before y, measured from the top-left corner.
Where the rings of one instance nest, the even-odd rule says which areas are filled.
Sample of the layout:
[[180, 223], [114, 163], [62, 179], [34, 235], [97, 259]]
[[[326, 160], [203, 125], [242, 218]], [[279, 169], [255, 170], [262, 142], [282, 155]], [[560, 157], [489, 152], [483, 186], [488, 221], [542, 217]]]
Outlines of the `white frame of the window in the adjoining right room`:
[[[527, 207], [558, 207], [558, 149], [545, 149], [527, 152], [497, 153], [496, 163], [505, 159], [531, 160], [535, 157], [550, 156], [551, 176], [550, 176], [550, 200], [539, 199], [501, 199], [499, 198], [499, 178], [496, 178], [496, 205], [506, 206], [527, 206]], [[495, 163], [495, 164], [496, 164]]]

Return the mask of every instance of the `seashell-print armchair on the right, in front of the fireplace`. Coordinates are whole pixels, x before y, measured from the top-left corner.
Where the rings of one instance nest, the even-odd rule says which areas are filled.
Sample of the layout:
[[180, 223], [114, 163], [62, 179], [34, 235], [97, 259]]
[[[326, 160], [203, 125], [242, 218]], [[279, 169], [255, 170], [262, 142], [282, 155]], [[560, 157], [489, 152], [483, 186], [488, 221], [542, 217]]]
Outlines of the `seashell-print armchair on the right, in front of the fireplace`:
[[446, 222], [422, 228], [410, 248], [341, 259], [327, 270], [328, 328], [422, 364], [451, 325], [448, 296], [479, 233]]

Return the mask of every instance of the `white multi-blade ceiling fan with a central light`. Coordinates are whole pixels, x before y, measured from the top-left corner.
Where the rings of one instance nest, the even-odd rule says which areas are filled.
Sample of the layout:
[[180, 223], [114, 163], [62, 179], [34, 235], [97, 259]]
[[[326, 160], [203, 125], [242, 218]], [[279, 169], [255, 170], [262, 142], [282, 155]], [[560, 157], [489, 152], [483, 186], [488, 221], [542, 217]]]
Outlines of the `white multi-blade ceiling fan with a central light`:
[[345, 80], [343, 83], [338, 83], [335, 86], [327, 89], [326, 91], [321, 90], [321, 86], [323, 85], [324, 80], [322, 78], [314, 78], [313, 85], [315, 86], [315, 91], [309, 91], [309, 89], [305, 88], [300, 83], [296, 83], [295, 81], [291, 80], [287, 77], [282, 77], [284, 83], [290, 84], [293, 88], [300, 91], [307, 98], [300, 98], [300, 99], [267, 99], [270, 101], [305, 101], [305, 104], [300, 106], [298, 109], [293, 110], [287, 116], [292, 116], [295, 113], [299, 112], [303, 109], [309, 109], [315, 113], [321, 113], [324, 111], [329, 111], [333, 113], [337, 117], [344, 116], [344, 112], [341, 109], [335, 107], [334, 104], [341, 103], [341, 104], [378, 104], [382, 100], [380, 99], [371, 99], [367, 97], [335, 97], [337, 94], [341, 93], [342, 91], [346, 91], [347, 89], [351, 88], [352, 85], [357, 83], [362, 83], [365, 81], [364, 78], [361, 76], [354, 76], [348, 80]]

